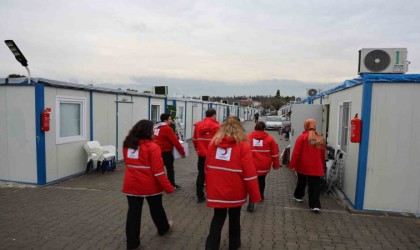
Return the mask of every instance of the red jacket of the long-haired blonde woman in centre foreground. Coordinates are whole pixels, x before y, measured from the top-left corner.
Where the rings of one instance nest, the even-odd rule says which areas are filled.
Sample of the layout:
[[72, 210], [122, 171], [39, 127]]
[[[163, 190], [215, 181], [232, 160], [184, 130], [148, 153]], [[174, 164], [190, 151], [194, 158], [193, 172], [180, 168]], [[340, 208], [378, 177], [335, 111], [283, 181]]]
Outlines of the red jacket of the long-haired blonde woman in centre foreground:
[[257, 172], [247, 142], [236, 144], [225, 137], [218, 146], [210, 144], [206, 157], [207, 206], [242, 206], [249, 194], [251, 202], [261, 201]]

